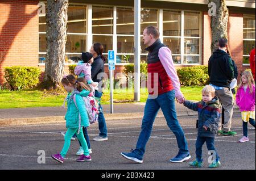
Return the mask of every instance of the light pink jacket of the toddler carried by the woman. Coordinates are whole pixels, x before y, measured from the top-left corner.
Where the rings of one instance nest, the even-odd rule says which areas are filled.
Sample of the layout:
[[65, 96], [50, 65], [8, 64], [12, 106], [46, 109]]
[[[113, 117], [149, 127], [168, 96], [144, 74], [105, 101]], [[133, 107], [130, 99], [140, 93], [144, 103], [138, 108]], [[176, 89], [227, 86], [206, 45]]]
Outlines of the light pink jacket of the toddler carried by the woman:
[[[75, 68], [75, 74], [79, 77], [84, 77], [86, 81], [92, 81], [92, 73], [91, 73], [91, 65], [86, 63], [86, 64], [77, 64]], [[88, 83], [89, 83], [88, 82]]]

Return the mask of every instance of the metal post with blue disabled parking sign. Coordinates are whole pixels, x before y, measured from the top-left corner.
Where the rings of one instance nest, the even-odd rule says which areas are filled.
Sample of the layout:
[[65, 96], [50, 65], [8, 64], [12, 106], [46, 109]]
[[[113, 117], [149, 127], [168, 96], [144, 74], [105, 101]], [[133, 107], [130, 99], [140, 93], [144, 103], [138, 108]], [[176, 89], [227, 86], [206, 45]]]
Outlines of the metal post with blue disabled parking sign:
[[109, 82], [110, 82], [110, 113], [114, 113], [113, 107], [113, 70], [115, 70], [114, 50], [108, 51]]

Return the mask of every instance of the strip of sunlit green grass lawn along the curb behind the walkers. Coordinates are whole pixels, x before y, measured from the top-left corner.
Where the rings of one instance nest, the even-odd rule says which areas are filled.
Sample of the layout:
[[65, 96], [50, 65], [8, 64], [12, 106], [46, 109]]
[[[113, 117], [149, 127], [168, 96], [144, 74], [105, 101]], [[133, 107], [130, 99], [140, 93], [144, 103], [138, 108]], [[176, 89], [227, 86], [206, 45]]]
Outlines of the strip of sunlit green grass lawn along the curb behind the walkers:
[[[202, 86], [181, 87], [188, 100], [201, 100]], [[109, 90], [104, 90], [102, 104], [109, 104]], [[0, 90], [0, 108], [56, 107], [63, 104], [65, 93], [52, 93], [40, 90], [9, 91]], [[141, 89], [141, 102], [147, 100], [147, 89]], [[114, 90], [114, 103], [133, 102], [133, 90]]]

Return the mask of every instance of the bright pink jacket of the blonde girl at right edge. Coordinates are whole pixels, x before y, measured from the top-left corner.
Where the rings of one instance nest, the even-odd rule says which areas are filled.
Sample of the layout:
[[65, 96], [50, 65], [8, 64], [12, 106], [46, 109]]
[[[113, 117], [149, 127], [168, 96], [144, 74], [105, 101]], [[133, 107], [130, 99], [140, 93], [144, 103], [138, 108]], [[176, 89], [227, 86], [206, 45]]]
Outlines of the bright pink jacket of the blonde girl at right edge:
[[249, 86], [246, 91], [243, 90], [243, 86], [237, 89], [236, 102], [240, 111], [255, 111], [255, 85], [251, 94]]

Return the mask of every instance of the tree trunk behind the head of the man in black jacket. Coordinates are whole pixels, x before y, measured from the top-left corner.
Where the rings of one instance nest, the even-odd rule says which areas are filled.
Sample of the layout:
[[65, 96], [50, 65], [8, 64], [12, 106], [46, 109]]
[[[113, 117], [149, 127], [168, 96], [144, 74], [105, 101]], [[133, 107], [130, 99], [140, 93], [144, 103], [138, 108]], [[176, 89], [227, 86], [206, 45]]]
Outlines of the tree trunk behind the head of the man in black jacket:
[[210, 17], [210, 28], [212, 30], [212, 44], [210, 50], [212, 53], [217, 49], [218, 39], [225, 37], [228, 39], [228, 18], [229, 10], [226, 7], [225, 0], [209, 0], [209, 3], [215, 3], [216, 14]]

